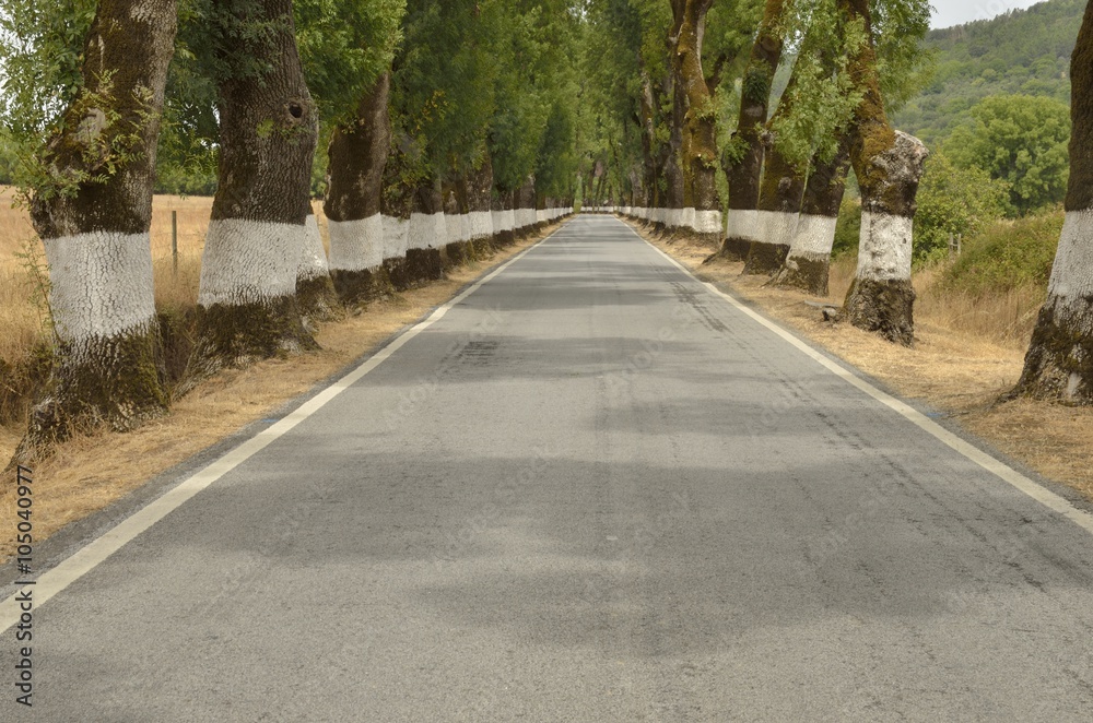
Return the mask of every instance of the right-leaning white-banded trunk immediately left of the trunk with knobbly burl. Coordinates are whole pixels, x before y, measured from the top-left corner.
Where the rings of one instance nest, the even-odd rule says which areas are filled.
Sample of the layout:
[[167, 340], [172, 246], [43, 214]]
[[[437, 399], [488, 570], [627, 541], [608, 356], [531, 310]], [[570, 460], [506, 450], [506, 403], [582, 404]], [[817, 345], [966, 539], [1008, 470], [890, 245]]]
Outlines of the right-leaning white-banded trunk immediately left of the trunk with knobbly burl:
[[779, 286], [795, 286], [816, 296], [827, 296], [831, 248], [835, 242], [849, 167], [849, 137], [844, 137], [831, 161], [813, 159], [794, 240], [775, 282]]

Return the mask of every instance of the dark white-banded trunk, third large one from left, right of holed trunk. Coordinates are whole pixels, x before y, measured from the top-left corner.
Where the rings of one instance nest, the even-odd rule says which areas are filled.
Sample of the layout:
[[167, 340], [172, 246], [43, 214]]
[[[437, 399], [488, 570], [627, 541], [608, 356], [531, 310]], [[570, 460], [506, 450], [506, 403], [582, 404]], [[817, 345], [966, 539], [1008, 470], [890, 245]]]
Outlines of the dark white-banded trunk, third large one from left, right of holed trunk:
[[391, 150], [387, 102], [390, 73], [361, 98], [356, 117], [334, 129], [328, 151], [330, 187], [324, 204], [330, 228], [330, 269], [338, 296], [360, 305], [390, 293], [380, 208]]

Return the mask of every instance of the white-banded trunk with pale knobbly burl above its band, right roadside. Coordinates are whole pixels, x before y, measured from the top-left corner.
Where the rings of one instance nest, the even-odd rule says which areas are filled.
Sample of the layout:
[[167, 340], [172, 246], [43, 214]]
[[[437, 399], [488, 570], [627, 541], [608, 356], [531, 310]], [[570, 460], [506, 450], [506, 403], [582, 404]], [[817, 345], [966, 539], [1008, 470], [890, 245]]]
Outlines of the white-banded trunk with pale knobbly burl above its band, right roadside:
[[[843, 2], [851, 20], [865, 21], [871, 38], [869, 0]], [[871, 39], [851, 58], [850, 74], [863, 93], [855, 111], [850, 145], [850, 162], [861, 188], [861, 236], [858, 270], [843, 315], [859, 329], [909, 346], [915, 340], [912, 227], [918, 181], [929, 152], [917, 138], [895, 131], [889, 123]]]

